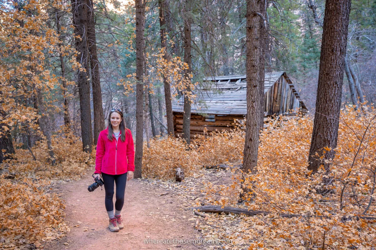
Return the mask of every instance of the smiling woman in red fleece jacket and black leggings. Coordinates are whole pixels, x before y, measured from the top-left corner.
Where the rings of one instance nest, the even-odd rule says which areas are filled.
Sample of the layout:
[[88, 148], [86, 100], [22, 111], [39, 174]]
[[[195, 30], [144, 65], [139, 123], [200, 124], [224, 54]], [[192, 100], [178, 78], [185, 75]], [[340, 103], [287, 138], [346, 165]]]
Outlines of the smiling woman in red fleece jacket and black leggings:
[[[94, 179], [102, 174], [105, 183], [105, 206], [109, 217], [108, 228], [117, 232], [124, 228], [121, 209], [124, 204], [126, 181], [133, 178], [135, 150], [132, 133], [126, 128], [121, 109], [112, 109], [108, 127], [98, 137]], [[112, 198], [116, 183], [115, 213]]]

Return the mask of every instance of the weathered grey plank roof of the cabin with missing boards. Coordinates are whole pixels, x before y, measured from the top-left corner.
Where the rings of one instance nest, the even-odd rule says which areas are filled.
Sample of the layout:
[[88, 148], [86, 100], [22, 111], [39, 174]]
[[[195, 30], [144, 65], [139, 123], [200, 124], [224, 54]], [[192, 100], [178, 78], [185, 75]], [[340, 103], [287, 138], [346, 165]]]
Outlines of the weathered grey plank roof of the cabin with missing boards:
[[[294, 85], [284, 71], [265, 73], [264, 94], [275, 82], [284, 75], [294, 95], [300, 99]], [[247, 82], [246, 75], [215, 76], [203, 78], [202, 86], [194, 91], [196, 97], [191, 105], [194, 114], [222, 114], [246, 115], [247, 114]], [[299, 100], [302, 108], [304, 103]], [[174, 112], [183, 112], [184, 100], [181, 97], [172, 104]]]

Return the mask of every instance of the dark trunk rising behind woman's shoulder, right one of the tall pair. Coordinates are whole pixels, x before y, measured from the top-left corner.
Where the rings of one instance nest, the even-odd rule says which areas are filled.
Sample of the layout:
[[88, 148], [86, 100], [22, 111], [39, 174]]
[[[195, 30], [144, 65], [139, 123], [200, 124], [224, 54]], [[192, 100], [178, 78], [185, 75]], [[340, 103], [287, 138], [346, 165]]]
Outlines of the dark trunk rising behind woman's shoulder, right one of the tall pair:
[[94, 109], [94, 144], [97, 144], [99, 133], [105, 129], [105, 115], [102, 105], [102, 90], [100, 88], [99, 61], [97, 56], [97, 39], [95, 34], [95, 16], [93, 0], [88, 0], [88, 46], [91, 67], [91, 84], [93, 91]]

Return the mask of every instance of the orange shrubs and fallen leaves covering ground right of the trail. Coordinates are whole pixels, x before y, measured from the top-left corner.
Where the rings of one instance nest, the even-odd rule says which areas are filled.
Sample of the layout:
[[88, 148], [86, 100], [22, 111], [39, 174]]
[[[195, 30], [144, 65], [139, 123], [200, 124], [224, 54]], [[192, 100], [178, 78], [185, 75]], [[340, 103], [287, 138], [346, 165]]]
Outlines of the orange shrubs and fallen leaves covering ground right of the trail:
[[[200, 206], [218, 205], [259, 212], [206, 213], [199, 219], [203, 238], [231, 240], [206, 249], [371, 249], [376, 247], [375, 114], [373, 108], [342, 110], [336, 156], [327, 175], [324, 169], [307, 170], [313, 126], [309, 117], [279, 119], [265, 129], [257, 173], [244, 175], [244, 180], [236, 167], [243, 158], [241, 130], [199, 137], [191, 150], [178, 142], [155, 140], [145, 148], [144, 169], [149, 177], [166, 179], [176, 167], [188, 172], [191, 177], [182, 184], [170, 184], [187, 209], [196, 207], [202, 213]], [[220, 163], [228, 170], [202, 168]], [[241, 182], [251, 191], [237, 204]]]

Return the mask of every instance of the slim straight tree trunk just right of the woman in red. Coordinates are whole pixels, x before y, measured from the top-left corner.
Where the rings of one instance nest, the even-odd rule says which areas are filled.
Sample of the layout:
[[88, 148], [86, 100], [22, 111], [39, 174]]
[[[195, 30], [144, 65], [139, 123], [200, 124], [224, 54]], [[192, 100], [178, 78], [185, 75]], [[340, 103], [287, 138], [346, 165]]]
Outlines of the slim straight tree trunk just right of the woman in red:
[[145, 30], [145, 3], [136, 2], [136, 152], [135, 178], [141, 178], [143, 156], [143, 93], [144, 93], [144, 30]]

